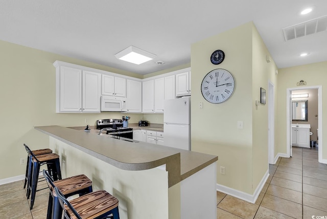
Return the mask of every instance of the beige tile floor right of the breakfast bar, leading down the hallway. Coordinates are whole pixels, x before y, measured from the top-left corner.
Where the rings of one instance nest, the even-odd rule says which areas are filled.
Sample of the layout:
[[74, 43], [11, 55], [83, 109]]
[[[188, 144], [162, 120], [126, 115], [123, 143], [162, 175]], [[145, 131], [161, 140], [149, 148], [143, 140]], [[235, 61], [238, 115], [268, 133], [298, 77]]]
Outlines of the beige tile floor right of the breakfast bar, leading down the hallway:
[[279, 158], [269, 173], [255, 204], [217, 192], [217, 218], [327, 218], [327, 165], [318, 163], [318, 148], [293, 147], [293, 157]]

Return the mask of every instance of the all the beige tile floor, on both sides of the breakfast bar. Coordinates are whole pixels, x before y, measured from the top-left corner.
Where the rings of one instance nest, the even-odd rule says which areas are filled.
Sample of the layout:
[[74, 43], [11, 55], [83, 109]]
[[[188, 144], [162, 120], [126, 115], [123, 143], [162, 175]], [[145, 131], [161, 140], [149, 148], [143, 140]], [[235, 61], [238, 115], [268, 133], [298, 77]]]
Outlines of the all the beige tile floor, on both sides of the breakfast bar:
[[[255, 204], [217, 191], [217, 218], [327, 218], [327, 165], [318, 163], [318, 148], [293, 148], [293, 157], [279, 158], [269, 172]], [[0, 219], [45, 218], [48, 189], [37, 192], [30, 210], [22, 187], [23, 181], [0, 185]]]

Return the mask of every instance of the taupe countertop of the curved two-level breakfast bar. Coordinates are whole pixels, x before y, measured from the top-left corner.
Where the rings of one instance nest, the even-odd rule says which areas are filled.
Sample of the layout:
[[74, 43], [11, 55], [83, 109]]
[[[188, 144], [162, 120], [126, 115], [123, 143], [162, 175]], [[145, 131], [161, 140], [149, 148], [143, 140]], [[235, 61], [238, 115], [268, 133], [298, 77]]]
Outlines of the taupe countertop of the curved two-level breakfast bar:
[[[135, 143], [114, 139], [110, 135], [98, 135], [99, 130], [91, 129], [90, 132], [84, 132], [82, 131], [83, 128], [82, 130], [81, 128], [35, 127], [36, 130], [121, 169], [138, 171], [166, 164], [169, 187], [218, 160], [218, 157], [214, 155], [154, 145], [147, 142]], [[144, 129], [145, 127], [139, 128]], [[147, 128], [152, 130], [149, 126]]]

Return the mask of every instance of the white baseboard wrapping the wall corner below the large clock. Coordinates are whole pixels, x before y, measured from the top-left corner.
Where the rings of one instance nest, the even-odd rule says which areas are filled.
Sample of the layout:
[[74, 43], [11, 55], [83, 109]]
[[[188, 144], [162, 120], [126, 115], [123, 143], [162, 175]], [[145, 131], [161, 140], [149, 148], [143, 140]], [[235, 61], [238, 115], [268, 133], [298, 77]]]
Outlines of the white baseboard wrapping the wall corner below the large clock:
[[217, 184], [217, 190], [221, 191], [221, 192], [224, 192], [226, 194], [229, 194], [230, 196], [233, 196], [233, 197], [236, 197], [238, 199], [242, 199], [244, 201], [247, 201], [247, 202], [250, 202], [250, 203], [254, 204], [256, 199], [258, 199], [259, 194], [260, 194], [262, 188], [264, 187], [268, 177], [269, 177], [269, 169], [265, 173], [265, 175], [262, 178], [262, 180], [260, 181], [259, 185], [256, 187], [253, 194], [248, 194], [248, 193], [245, 193], [243, 191], [239, 191], [237, 189], [229, 188], [227, 186], [220, 185], [220, 184]]

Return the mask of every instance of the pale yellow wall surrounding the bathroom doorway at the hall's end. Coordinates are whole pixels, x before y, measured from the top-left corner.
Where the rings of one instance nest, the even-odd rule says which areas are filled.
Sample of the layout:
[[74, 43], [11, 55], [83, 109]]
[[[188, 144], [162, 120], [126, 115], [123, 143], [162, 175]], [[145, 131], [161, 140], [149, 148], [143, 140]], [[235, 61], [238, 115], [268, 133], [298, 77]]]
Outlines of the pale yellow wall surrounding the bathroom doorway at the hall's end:
[[[301, 65], [289, 68], [278, 69], [278, 129], [276, 135], [278, 136], [276, 146], [279, 153], [286, 154], [286, 90], [287, 88], [298, 88], [296, 83], [300, 80], [306, 81], [306, 86], [301, 86], [303, 89], [309, 86], [322, 86], [322, 135], [325, 136], [327, 130], [327, 61], [318, 62], [308, 65]], [[320, 116], [320, 115], [319, 115]], [[327, 159], [327, 150], [323, 145], [322, 159]]]

